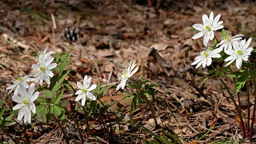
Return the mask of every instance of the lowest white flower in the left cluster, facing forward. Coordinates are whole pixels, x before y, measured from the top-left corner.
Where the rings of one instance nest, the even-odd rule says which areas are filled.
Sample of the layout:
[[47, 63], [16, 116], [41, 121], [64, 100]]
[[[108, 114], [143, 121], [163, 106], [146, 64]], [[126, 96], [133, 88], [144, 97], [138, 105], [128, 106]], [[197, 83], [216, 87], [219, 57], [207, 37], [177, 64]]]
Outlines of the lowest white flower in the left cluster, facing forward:
[[33, 103], [39, 95], [39, 92], [35, 92], [35, 84], [30, 84], [30, 87], [28, 88], [28, 92], [26, 88], [20, 84], [20, 87], [17, 88], [20, 96], [12, 96], [12, 99], [14, 102], [17, 102], [18, 104], [14, 106], [13, 110], [20, 109], [18, 113], [18, 121], [21, 120], [24, 116], [24, 122], [31, 123], [31, 111], [33, 113], [36, 113], [36, 106]]

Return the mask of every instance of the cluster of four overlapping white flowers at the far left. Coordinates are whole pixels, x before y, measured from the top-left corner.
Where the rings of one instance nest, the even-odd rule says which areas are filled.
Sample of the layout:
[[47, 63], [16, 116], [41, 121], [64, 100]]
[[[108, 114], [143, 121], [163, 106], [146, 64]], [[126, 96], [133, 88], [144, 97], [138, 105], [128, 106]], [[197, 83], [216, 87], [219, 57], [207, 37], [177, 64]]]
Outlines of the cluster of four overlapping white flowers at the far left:
[[[29, 76], [19, 76], [16, 78], [13, 82], [12, 86], [9, 86], [6, 88], [7, 90], [10, 90], [12, 92], [14, 90], [14, 95], [12, 96], [12, 99], [14, 102], [17, 102], [18, 104], [13, 107], [13, 110], [18, 110], [18, 121], [22, 120], [24, 117], [24, 122], [31, 123], [31, 111], [33, 113], [36, 112], [36, 106], [33, 103], [39, 95], [39, 92], [35, 91], [35, 84], [32, 83], [30, 86], [28, 86], [27, 82], [38, 82], [40, 80], [40, 85], [42, 86], [43, 80], [46, 81], [47, 84], [50, 84], [50, 78], [53, 76], [53, 73], [50, 71], [52, 68], [56, 68], [57, 64], [51, 62], [54, 60], [50, 56], [53, 52], [46, 53], [47, 48], [44, 49], [44, 52], [40, 52], [38, 54], [38, 64], [33, 64], [32, 68], [37, 70], [34, 74], [30, 74], [29, 76], [34, 76], [35, 78], [30, 78]], [[28, 92], [26, 90], [28, 88]], [[18, 96], [20, 94], [20, 96]]]

